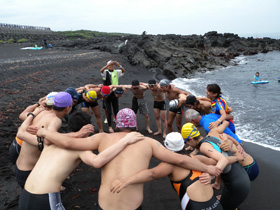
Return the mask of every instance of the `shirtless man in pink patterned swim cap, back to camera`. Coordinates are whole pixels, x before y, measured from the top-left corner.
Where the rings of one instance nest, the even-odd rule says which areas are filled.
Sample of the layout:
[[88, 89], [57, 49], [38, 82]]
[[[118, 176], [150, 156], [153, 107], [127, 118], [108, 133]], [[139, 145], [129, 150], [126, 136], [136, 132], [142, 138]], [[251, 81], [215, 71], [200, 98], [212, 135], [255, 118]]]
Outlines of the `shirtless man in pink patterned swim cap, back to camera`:
[[[122, 109], [116, 118], [118, 133], [106, 134], [106, 138], [97, 139], [95, 135], [86, 139], [66, 137], [57, 132], [41, 128], [37, 135], [47, 138], [60, 147], [76, 150], [95, 150], [102, 152], [106, 148], [120, 141], [131, 129], [136, 127], [136, 115], [131, 109]], [[119, 155], [101, 169], [101, 186], [98, 201], [101, 209], [131, 210], [138, 209], [143, 201], [143, 184], [136, 184], [124, 189], [119, 194], [112, 194], [110, 186], [116, 179], [129, 177], [149, 167], [152, 156], [179, 165], [184, 168], [208, 172], [218, 175], [220, 170], [214, 166], [207, 166], [196, 159], [176, 154], [164, 148], [158, 141], [145, 137], [143, 141], [127, 146]]]

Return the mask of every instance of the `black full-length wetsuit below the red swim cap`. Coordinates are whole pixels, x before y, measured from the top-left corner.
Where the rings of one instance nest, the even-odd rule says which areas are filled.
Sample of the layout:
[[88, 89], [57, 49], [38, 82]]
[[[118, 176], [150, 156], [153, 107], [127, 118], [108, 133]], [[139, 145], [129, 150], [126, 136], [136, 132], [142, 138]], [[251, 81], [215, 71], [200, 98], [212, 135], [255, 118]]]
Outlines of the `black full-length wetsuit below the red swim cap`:
[[117, 113], [119, 112], [119, 100], [116, 97], [114, 92], [111, 92], [111, 94], [104, 100], [105, 102], [105, 107], [107, 110], [107, 121], [108, 121], [108, 126], [112, 126], [112, 108], [114, 115], [116, 116]]

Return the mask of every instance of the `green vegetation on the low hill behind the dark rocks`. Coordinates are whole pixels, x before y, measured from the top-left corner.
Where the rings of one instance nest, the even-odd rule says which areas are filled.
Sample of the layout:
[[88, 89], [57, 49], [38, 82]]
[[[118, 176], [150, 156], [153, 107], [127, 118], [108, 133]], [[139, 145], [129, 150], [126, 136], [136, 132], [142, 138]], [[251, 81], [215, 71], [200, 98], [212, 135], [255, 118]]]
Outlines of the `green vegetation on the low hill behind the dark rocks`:
[[106, 33], [99, 31], [89, 31], [89, 30], [78, 30], [78, 31], [58, 31], [54, 32], [58, 35], [64, 35], [68, 39], [91, 39], [94, 37], [105, 37], [105, 36], [128, 36], [131, 34], [124, 33]]

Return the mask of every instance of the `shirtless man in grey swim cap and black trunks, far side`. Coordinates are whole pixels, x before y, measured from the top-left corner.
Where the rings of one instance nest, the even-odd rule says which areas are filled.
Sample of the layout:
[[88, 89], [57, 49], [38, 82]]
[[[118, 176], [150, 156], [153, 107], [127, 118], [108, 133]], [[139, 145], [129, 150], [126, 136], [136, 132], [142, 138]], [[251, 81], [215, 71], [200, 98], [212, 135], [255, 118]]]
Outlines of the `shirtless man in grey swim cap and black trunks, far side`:
[[[173, 99], [178, 99], [180, 94], [184, 94], [186, 96], [189, 95], [188, 92], [180, 90], [176, 88], [173, 84], [170, 84], [170, 81], [168, 79], [162, 79], [159, 82], [161, 90], [166, 93], [167, 98], [169, 101]], [[181, 131], [182, 127], [182, 114], [183, 114], [183, 107], [179, 108], [169, 108], [168, 112], [168, 121], [167, 121], [167, 126], [168, 126], [168, 133], [173, 132], [173, 121], [176, 117], [176, 126], [178, 129], [178, 132]]]

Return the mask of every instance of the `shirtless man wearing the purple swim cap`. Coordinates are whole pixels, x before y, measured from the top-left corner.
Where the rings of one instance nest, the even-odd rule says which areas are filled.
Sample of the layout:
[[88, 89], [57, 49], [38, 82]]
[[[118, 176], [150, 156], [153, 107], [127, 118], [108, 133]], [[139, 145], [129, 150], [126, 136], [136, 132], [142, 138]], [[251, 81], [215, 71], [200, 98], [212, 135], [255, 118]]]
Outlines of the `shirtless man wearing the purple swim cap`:
[[[34, 115], [34, 120], [32, 125], [41, 128], [48, 128], [51, 131], [57, 131], [61, 127], [61, 119], [69, 114], [72, 107], [72, 98], [70, 94], [66, 92], [60, 92], [56, 94], [54, 98], [54, 106], [50, 111], [42, 111], [36, 113], [36, 117], [33, 113], [29, 115]], [[37, 115], [38, 114], [38, 115]], [[79, 135], [77, 133], [77, 135]], [[21, 136], [18, 135], [21, 139]], [[31, 170], [34, 168], [41, 151], [38, 149], [38, 143], [36, 139], [25, 139], [21, 146], [21, 151], [15, 165], [15, 175], [18, 184], [23, 188], [25, 181], [30, 174]]]

